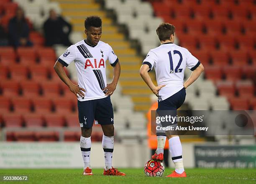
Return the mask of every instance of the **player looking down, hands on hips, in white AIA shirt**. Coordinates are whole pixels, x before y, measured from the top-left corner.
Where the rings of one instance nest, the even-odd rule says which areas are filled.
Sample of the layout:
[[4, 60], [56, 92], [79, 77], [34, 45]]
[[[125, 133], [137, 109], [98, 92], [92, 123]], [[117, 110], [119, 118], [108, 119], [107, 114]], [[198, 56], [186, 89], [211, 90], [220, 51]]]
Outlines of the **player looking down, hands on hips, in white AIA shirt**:
[[[95, 120], [104, 133], [102, 147], [105, 157], [103, 175], [125, 176], [112, 166], [114, 150], [114, 117], [110, 95], [115, 91], [120, 76], [120, 63], [113, 49], [100, 41], [102, 20], [97, 16], [87, 17], [84, 21], [86, 39], [71, 45], [59, 57], [54, 69], [59, 78], [77, 96], [79, 123], [82, 131], [80, 147], [84, 160], [84, 176], [92, 175], [90, 166], [91, 134]], [[114, 68], [112, 83], [106, 85], [106, 60]], [[78, 85], [74, 85], [64, 72], [63, 67], [74, 61]]]

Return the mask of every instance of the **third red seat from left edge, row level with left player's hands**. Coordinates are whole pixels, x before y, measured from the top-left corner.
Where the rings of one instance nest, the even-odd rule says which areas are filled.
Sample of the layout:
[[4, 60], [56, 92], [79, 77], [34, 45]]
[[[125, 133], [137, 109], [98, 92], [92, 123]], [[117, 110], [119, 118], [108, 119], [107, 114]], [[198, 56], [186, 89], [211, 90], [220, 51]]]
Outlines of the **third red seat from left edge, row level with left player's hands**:
[[46, 81], [41, 82], [41, 87], [43, 89], [43, 95], [49, 98], [60, 97], [60, 86], [59, 83]]

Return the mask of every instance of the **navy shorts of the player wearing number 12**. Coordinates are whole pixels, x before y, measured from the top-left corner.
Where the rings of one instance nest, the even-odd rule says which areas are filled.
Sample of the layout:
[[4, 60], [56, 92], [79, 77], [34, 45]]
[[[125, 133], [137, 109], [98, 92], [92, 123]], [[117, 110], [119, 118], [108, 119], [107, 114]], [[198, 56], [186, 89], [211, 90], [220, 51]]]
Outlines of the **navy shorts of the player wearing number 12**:
[[[177, 116], [177, 109], [182, 106], [186, 98], [186, 89], [182, 88], [174, 95], [166, 98], [163, 101], [158, 102], [158, 108], [156, 109], [157, 116]], [[169, 122], [162, 122], [163, 127], [177, 124], [177, 121], [170, 124]], [[156, 133], [156, 135], [161, 135]]]

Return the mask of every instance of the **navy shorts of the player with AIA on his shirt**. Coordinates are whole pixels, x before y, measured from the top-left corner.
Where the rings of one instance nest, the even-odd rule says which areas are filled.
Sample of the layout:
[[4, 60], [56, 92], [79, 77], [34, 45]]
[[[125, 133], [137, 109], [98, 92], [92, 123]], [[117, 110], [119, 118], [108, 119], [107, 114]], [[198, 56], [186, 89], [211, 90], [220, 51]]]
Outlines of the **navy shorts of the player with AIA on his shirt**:
[[91, 128], [94, 120], [101, 125], [114, 124], [110, 96], [96, 100], [78, 101], [77, 106], [80, 127]]

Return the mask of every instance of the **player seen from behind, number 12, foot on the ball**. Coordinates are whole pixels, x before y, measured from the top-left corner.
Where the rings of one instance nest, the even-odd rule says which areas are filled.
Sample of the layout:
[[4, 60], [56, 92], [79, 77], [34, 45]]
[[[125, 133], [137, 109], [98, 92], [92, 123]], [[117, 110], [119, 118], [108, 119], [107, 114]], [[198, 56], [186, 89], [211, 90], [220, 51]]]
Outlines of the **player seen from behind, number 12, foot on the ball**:
[[[151, 91], [158, 96], [157, 111], [174, 111], [182, 105], [186, 96], [186, 88], [191, 85], [202, 73], [204, 67], [186, 48], [174, 44], [175, 27], [169, 23], [161, 23], [156, 33], [161, 42], [157, 48], [151, 49], [140, 69], [140, 75]], [[158, 86], [152, 82], [148, 72], [155, 68]], [[192, 73], [186, 82], [184, 71], [188, 67]], [[177, 123], [177, 122], [175, 122]], [[169, 151], [174, 162], [175, 170], [167, 177], [186, 177], [182, 159], [182, 145], [179, 136], [165, 132], [169, 141]], [[158, 147], [152, 156], [154, 160], [162, 161], [166, 136], [156, 134]]]

